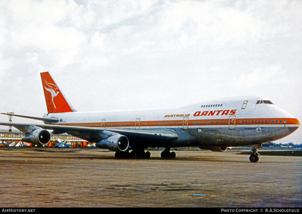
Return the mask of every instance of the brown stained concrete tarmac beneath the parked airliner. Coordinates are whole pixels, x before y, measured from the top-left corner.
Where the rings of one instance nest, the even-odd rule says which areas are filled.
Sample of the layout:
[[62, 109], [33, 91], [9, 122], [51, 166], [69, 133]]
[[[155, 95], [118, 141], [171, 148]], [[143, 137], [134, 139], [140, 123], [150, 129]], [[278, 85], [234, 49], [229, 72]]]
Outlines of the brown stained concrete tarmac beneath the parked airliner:
[[1, 148], [0, 207], [302, 206], [300, 156], [251, 163], [234, 149], [150, 152], [116, 159], [98, 148]]

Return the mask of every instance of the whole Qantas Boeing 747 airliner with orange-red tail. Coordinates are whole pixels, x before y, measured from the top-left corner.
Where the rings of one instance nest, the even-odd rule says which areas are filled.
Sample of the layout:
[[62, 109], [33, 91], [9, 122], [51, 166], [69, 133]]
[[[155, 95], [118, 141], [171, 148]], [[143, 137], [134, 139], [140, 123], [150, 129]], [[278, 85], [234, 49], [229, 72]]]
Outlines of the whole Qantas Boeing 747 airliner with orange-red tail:
[[262, 143], [286, 137], [300, 126], [297, 118], [261, 97], [226, 98], [169, 110], [79, 112], [48, 72], [40, 74], [48, 113], [43, 117], [14, 116], [44, 124], [0, 123], [22, 131], [22, 140], [36, 145], [50, 142], [48, 130], [95, 142], [124, 158], [148, 158], [148, 147], [165, 148], [161, 157], [175, 158], [171, 148], [225, 151], [252, 145], [249, 160], [257, 162]]

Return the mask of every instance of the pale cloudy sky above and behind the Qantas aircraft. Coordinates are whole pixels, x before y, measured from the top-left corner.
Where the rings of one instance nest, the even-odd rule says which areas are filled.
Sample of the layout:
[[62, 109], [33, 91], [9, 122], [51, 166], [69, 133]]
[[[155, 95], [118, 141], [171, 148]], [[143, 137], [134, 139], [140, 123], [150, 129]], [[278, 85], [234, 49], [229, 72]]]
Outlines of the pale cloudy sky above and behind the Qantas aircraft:
[[0, 112], [46, 113], [49, 71], [78, 111], [255, 95], [302, 121], [301, 38], [301, 1], [3, 0]]

